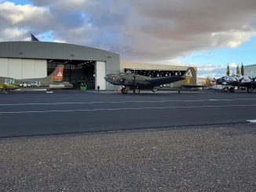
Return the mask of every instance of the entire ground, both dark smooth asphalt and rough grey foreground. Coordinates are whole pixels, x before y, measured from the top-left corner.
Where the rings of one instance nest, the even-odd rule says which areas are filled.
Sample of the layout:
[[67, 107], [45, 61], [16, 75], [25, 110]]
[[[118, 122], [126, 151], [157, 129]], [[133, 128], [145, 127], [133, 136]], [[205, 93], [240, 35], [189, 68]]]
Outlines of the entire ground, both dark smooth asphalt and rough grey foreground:
[[246, 92], [1, 95], [0, 191], [255, 191], [255, 100]]

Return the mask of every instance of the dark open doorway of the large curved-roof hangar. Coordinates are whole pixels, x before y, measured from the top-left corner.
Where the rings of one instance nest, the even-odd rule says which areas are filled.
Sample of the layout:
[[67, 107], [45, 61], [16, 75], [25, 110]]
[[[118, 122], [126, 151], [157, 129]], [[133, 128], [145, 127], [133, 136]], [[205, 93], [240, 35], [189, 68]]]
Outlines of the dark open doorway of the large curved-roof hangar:
[[90, 60], [49, 60], [47, 74], [51, 74], [58, 64], [64, 64], [63, 81], [70, 82], [74, 89], [85, 83], [87, 89], [95, 89], [95, 61]]

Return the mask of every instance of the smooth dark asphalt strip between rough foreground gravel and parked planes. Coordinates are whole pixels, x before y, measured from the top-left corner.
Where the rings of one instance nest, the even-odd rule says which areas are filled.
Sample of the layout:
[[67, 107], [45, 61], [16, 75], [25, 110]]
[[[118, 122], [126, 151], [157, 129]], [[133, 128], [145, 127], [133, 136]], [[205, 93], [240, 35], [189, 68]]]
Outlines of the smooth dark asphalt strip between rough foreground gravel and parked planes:
[[247, 92], [11, 92], [0, 95], [0, 137], [240, 123], [255, 107]]

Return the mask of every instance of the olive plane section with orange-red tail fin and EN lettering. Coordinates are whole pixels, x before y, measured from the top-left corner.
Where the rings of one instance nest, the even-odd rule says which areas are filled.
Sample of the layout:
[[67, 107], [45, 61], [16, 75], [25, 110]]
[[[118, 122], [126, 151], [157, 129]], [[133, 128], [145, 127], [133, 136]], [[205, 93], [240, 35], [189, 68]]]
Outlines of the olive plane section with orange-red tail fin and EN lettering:
[[46, 78], [16, 79], [0, 77], [0, 90], [7, 93], [13, 89], [68, 89], [72, 88], [69, 82], [63, 82], [64, 65], [60, 64], [55, 71]]

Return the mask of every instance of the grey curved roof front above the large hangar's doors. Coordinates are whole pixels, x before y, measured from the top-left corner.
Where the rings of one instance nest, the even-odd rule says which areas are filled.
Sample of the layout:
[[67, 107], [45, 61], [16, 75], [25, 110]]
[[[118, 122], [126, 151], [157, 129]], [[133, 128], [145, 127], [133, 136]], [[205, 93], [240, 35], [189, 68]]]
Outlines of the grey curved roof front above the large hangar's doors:
[[0, 42], [0, 57], [120, 62], [117, 53], [57, 42]]

